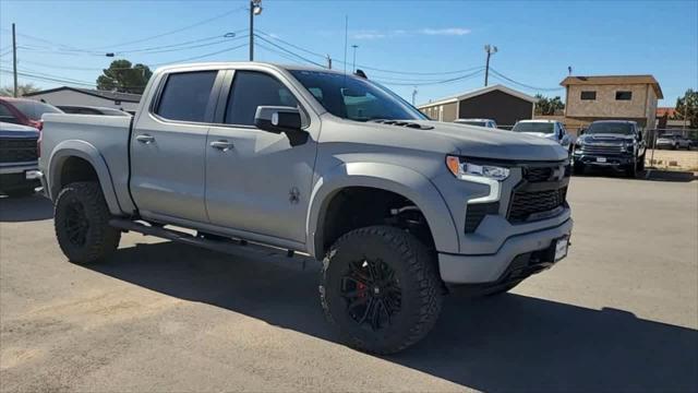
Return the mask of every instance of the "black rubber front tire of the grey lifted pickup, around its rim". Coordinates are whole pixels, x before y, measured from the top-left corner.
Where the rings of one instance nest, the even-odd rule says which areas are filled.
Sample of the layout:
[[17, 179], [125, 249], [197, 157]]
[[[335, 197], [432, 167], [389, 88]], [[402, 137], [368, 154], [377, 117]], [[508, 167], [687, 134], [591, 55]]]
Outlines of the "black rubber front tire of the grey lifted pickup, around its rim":
[[[401, 296], [394, 322], [377, 331], [353, 320], [341, 295], [341, 281], [349, 264], [370, 259], [384, 262], [395, 272]], [[399, 228], [371, 226], [349, 231], [323, 260], [320, 300], [325, 315], [345, 343], [362, 352], [394, 354], [419, 342], [438, 319], [442, 293], [433, 253]]]

